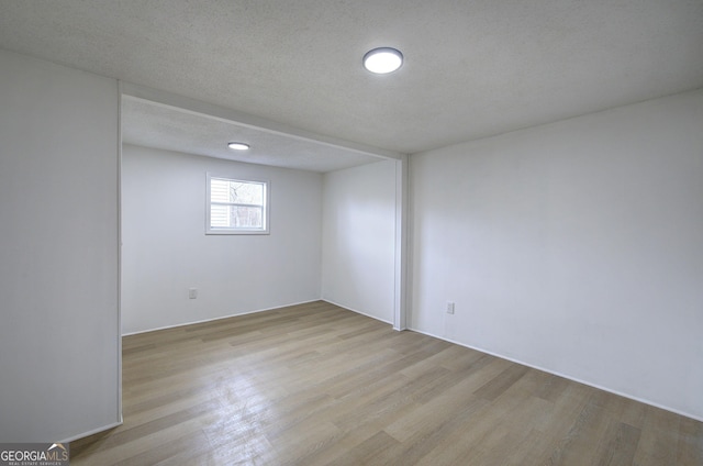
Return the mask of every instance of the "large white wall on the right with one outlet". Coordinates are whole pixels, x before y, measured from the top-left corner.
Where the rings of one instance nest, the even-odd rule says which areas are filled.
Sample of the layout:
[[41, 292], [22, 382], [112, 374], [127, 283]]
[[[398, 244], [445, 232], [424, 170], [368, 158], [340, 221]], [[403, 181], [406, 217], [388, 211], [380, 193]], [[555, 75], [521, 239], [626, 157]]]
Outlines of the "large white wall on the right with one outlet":
[[414, 155], [411, 187], [413, 329], [703, 419], [703, 91]]

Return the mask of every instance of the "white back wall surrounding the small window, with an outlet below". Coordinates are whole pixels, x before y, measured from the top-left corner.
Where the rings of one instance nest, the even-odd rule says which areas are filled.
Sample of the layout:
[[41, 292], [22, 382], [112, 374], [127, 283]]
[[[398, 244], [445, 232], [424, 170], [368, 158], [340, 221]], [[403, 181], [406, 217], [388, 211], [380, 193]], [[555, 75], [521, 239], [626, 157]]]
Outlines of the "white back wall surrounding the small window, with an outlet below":
[[[131, 145], [122, 156], [124, 333], [320, 299], [322, 175]], [[269, 180], [270, 234], [205, 235], [208, 171]]]

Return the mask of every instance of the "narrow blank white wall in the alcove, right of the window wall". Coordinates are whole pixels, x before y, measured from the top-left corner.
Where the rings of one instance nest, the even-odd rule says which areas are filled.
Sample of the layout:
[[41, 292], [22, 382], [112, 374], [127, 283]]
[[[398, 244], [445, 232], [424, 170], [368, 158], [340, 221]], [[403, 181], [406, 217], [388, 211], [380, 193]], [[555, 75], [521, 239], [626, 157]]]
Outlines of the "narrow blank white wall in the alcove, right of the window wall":
[[322, 298], [393, 322], [395, 160], [324, 176]]

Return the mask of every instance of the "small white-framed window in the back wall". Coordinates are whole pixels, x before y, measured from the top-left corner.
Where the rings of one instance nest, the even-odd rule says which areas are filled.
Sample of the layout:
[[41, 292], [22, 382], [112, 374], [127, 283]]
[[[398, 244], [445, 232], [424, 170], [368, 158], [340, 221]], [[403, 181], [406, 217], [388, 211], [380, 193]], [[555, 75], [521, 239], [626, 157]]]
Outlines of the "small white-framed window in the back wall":
[[268, 181], [208, 174], [205, 234], [268, 234]]

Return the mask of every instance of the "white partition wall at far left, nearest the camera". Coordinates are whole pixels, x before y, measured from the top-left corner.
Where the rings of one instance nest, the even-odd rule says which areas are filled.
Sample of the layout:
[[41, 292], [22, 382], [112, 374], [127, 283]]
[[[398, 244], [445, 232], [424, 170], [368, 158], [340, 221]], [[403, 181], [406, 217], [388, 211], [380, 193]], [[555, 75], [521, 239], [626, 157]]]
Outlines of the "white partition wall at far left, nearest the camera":
[[120, 422], [118, 82], [0, 51], [0, 442]]

